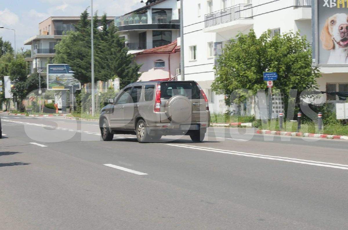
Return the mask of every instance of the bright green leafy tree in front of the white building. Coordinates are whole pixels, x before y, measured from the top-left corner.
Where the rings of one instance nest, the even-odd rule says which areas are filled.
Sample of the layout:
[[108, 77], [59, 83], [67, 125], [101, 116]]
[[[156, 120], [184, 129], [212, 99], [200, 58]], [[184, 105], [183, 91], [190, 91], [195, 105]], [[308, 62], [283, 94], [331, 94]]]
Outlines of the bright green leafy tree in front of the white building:
[[[239, 34], [227, 44], [218, 59], [215, 67], [217, 77], [212, 89], [216, 93], [226, 93], [228, 101], [232, 92], [239, 92], [245, 98], [255, 95], [259, 89], [266, 89], [264, 72], [277, 72], [274, 88], [284, 93], [287, 106], [291, 89], [298, 90], [297, 99], [303, 90], [317, 89], [316, 79], [320, 73], [318, 68], [311, 66], [312, 51], [308, 47], [306, 37], [299, 33], [277, 34], [272, 38], [269, 31], [259, 38], [253, 30]], [[250, 93], [240, 89], [247, 89]], [[298, 107], [299, 100], [296, 100], [296, 105]]]

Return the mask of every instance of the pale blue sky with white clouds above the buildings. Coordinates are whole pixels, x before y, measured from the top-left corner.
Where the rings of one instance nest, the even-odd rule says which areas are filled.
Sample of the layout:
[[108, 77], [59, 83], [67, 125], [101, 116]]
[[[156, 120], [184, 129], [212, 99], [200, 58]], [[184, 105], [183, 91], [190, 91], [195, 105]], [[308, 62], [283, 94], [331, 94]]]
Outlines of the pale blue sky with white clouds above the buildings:
[[[50, 16], [79, 16], [91, 0], [0, 0], [0, 26], [16, 30], [16, 49], [30, 49], [25, 40], [39, 33], [39, 23]], [[121, 16], [144, 6], [140, 0], [93, 0], [98, 15]], [[89, 8], [90, 12], [90, 8]], [[0, 28], [0, 36], [14, 46], [14, 31]]]

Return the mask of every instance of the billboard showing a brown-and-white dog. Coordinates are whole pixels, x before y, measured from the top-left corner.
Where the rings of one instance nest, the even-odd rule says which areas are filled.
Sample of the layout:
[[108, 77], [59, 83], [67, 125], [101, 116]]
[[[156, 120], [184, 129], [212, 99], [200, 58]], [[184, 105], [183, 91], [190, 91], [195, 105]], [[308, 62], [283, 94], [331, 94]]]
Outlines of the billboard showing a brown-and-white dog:
[[348, 66], [348, 1], [314, 0], [313, 3], [314, 64]]

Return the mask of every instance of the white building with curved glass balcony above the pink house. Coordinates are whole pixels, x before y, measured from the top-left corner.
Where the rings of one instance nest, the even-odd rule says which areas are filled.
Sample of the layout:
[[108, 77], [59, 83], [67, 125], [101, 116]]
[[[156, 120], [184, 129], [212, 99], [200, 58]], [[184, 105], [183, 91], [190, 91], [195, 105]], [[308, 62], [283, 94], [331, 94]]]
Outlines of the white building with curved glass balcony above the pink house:
[[145, 6], [115, 18], [129, 53], [165, 46], [180, 36], [178, 0], [148, 0]]

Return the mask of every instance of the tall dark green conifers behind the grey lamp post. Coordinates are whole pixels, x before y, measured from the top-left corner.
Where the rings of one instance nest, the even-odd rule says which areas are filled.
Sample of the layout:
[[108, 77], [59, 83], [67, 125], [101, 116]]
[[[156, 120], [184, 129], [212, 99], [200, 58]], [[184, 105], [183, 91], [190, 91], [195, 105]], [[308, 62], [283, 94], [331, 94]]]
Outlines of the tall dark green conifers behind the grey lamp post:
[[[75, 77], [81, 83], [91, 82], [91, 44], [90, 44], [90, 20], [87, 10], [82, 12], [80, 22], [75, 32], [69, 32], [55, 47], [55, 63], [67, 63], [75, 72]], [[103, 26], [98, 30], [98, 23]], [[116, 33], [114, 25], [107, 25], [106, 14], [98, 20], [94, 15], [94, 69], [95, 81], [107, 81], [117, 76], [121, 83], [139, 79], [140, 65], [133, 64], [133, 55], [127, 54], [122, 40]]]

